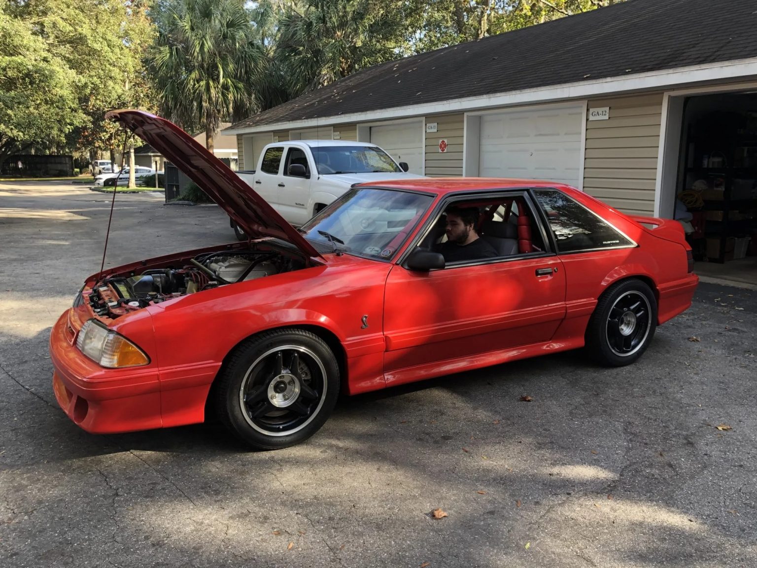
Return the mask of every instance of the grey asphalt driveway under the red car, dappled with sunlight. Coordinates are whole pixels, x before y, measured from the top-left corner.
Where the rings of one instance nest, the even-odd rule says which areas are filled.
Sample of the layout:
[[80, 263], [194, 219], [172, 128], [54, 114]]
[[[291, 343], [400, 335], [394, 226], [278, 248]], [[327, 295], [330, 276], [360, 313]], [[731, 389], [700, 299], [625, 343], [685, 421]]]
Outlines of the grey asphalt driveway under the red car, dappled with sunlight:
[[[632, 367], [559, 354], [345, 399], [287, 450], [95, 436], [47, 341], [109, 211], [0, 183], [2, 566], [757, 566], [757, 292], [702, 285]], [[232, 240], [215, 206], [118, 195], [106, 264]]]

